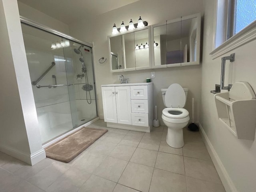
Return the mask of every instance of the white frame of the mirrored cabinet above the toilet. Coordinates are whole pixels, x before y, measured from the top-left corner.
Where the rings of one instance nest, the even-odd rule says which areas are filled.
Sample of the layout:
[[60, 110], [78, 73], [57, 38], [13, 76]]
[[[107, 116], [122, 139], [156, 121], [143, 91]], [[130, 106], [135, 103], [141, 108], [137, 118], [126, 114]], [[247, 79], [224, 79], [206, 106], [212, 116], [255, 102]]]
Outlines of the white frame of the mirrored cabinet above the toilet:
[[200, 38], [201, 38], [201, 13], [196, 13], [196, 14], [192, 14], [189, 16], [184, 16], [181, 18], [176, 18], [176, 19], [172, 19], [172, 20], [168, 20], [166, 22], [162, 22], [159, 24], [155, 24], [151, 26], [151, 46], [154, 46], [154, 28], [155, 27], [159, 27], [159, 26], [166, 26], [167, 24], [172, 24], [172, 23], [176, 23], [176, 22], [181, 22], [184, 20], [188, 20], [188, 19], [192, 19], [192, 18], [197, 18], [197, 30], [196, 30], [196, 41], [197, 41], [197, 45], [196, 45], [196, 61], [192, 61], [192, 62], [183, 62], [183, 63], [176, 63], [176, 64], [163, 64], [163, 65], [154, 65], [154, 49], [152, 49], [151, 51], [151, 57], [152, 57], [152, 68], [166, 68], [166, 67], [177, 67], [177, 66], [188, 66], [188, 65], [198, 65], [200, 64]]

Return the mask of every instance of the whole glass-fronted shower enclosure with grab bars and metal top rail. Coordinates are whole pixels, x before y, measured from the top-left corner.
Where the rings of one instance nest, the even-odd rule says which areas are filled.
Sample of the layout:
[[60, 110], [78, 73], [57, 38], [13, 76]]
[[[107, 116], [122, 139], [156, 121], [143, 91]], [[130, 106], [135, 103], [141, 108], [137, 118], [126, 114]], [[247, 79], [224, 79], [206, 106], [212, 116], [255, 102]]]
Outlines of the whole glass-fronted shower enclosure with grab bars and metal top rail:
[[96, 117], [92, 44], [21, 17], [42, 142]]

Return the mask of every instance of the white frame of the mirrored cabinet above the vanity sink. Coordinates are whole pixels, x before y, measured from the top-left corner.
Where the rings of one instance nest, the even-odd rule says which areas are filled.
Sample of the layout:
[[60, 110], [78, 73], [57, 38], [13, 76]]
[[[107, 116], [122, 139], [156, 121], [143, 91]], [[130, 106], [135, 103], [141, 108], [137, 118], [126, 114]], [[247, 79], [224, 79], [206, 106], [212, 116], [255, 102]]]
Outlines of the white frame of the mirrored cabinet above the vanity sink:
[[[109, 52], [109, 58], [111, 58], [111, 47], [110, 47], [110, 38], [111, 37], [114, 37], [114, 36], [121, 36], [121, 43], [122, 43], [122, 59], [123, 59], [123, 65], [126, 66], [125, 64], [125, 50], [124, 50], [124, 38], [122, 38], [122, 35], [124, 34], [129, 34], [129, 33], [135, 33], [137, 31], [141, 31], [141, 30], [148, 30], [148, 45], [151, 45], [151, 29], [150, 29], [150, 26], [145, 26], [143, 28], [137, 28], [137, 29], [134, 29], [134, 30], [130, 30], [130, 31], [126, 31], [126, 32], [122, 32], [122, 33], [118, 33], [118, 34], [114, 34], [114, 35], [109, 35], [108, 36], [108, 52]], [[148, 52], [148, 56], [149, 56], [149, 62], [148, 62], [148, 66], [144, 66], [144, 67], [136, 67], [136, 63], [135, 63], [135, 68], [122, 68], [122, 69], [115, 69], [115, 70], [112, 70], [112, 61], [110, 59], [110, 72], [123, 72], [123, 71], [134, 71], [134, 70], [143, 70], [143, 69], [151, 69], [152, 68], [152, 55], [151, 55], [151, 52], [152, 50], [152, 47], [150, 48], [151, 46], [149, 46], [149, 52]], [[134, 49], [135, 49], [135, 45], [134, 45]], [[134, 54], [135, 54], [135, 51], [134, 51]]]

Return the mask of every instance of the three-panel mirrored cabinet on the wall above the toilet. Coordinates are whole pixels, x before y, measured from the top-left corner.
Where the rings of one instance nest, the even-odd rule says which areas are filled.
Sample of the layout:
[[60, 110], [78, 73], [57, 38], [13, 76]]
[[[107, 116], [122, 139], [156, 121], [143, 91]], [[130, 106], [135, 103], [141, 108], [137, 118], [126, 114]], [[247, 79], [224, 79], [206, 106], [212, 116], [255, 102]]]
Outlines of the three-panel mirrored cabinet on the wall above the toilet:
[[201, 14], [152, 26], [152, 68], [199, 64]]

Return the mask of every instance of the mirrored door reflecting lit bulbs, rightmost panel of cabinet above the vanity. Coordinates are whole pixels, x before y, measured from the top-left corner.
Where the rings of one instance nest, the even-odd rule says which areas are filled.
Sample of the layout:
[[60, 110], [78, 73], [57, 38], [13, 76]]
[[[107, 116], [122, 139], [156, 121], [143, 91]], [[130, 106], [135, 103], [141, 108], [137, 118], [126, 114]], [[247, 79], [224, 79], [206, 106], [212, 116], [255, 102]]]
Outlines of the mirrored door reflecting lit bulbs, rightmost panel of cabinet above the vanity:
[[134, 32], [134, 42], [136, 70], [151, 68], [149, 29]]

